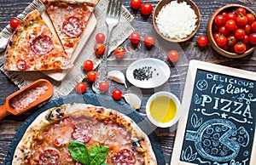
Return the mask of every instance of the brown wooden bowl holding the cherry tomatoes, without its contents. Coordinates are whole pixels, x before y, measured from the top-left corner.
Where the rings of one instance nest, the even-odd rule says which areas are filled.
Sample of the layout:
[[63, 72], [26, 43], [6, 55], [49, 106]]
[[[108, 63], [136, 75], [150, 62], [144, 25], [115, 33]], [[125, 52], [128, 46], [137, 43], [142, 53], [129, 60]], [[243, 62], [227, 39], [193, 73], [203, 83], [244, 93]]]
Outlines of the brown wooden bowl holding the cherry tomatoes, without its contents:
[[[244, 57], [244, 56], [247, 56], [248, 54], [251, 54], [253, 53], [253, 50], [254, 48], [249, 48], [247, 49], [247, 51], [245, 51], [243, 54], [236, 54], [236, 53], [231, 53], [229, 51], [226, 51], [224, 50], [223, 48], [220, 48], [218, 47], [218, 44], [215, 42], [214, 38], [213, 38], [213, 33], [212, 33], [212, 25], [213, 25], [213, 22], [214, 22], [214, 18], [216, 17], [216, 15], [220, 14], [221, 12], [223, 11], [232, 11], [234, 9], [237, 9], [239, 7], [242, 7], [244, 9], [247, 10], [247, 13], [253, 13], [253, 10], [243, 6], [243, 5], [240, 5], [240, 4], [228, 4], [228, 5], [225, 5], [219, 9], [217, 9], [213, 14], [212, 16], [210, 17], [210, 19], [208, 20], [208, 25], [207, 25], [207, 37], [208, 37], [208, 40], [209, 40], [209, 43], [211, 44], [212, 48], [218, 52], [218, 54], [221, 54], [221, 55], [224, 55], [225, 57], [229, 57], [229, 58], [241, 58], [241, 57]], [[254, 14], [255, 15], [255, 14]]]

